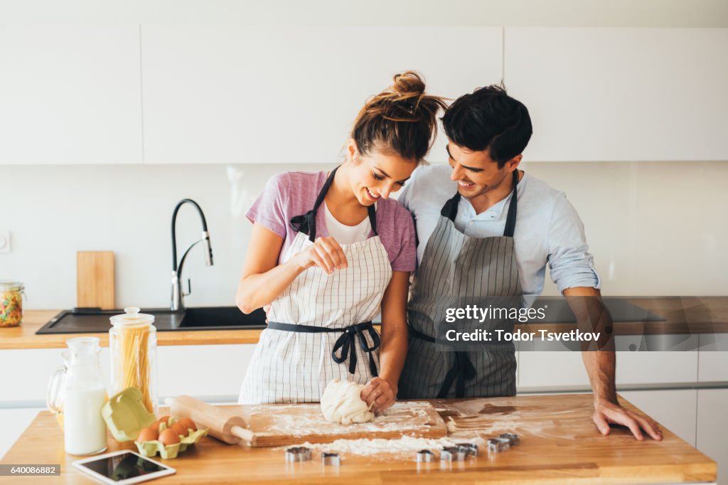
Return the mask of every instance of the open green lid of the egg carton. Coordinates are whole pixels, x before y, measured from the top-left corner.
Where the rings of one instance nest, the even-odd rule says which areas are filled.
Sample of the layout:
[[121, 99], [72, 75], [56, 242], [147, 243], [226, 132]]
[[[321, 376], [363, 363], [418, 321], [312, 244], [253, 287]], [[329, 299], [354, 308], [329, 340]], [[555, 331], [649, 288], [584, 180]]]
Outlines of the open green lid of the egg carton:
[[111, 396], [101, 408], [101, 415], [111, 435], [121, 442], [134, 441], [143, 427], [157, 421], [144, 407], [138, 387], [127, 387]]

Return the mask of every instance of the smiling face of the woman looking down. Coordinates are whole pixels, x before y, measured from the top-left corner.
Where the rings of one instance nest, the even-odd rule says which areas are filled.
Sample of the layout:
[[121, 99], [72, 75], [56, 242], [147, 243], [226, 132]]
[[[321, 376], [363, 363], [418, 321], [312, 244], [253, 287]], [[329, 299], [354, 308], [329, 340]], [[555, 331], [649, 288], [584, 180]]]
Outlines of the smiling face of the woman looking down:
[[354, 141], [349, 141], [347, 158], [349, 185], [361, 205], [387, 199], [389, 194], [401, 189], [417, 167], [414, 159], [406, 159], [396, 154], [387, 154], [380, 149], [371, 149], [368, 154], [360, 154]]

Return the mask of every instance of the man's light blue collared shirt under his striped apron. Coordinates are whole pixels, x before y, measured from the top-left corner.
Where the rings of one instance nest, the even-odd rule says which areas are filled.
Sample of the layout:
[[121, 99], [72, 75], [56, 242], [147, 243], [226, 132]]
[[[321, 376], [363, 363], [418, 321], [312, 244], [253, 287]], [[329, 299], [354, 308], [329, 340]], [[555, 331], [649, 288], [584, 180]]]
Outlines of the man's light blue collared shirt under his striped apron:
[[[427, 240], [435, 230], [440, 210], [457, 192], [450, 180], [452, 168], [447, 164], [417, 168], [399, 200], [413, 213], [419, 245], [417, 261], [422, 261]], [[502, 236], [513, 192], [483, 213], [476, 214], [470, 201], [461, 198], [455, 227], [471, 237]], [[523, 173], [518, 183], [518, 215], [515, 221], [515, 259], [523, 294], [539, 296], [543, 291], [546, 265], [559, 291], [577, 286], [600, 288], [593, 256], [584, 234], [579, 214], [566, 194], [545, 182]]]

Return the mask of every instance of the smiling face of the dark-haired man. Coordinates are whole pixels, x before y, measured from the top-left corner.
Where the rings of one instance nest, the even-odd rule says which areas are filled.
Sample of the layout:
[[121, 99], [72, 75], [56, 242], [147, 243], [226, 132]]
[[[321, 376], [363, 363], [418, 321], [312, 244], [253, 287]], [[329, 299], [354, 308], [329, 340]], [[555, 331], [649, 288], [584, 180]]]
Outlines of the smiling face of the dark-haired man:
[[457, 190], [462, 197], [472, 201], [503, 184], [510, 186], [511, 173], [518, 162], [509, 160], [498, 168], [498, 162], [491, 159], [490, 149], [472, 151], [452, 142], [448, 143], [447, 149], [448, 162], [453, 167], [450, 178], [457, 181]]

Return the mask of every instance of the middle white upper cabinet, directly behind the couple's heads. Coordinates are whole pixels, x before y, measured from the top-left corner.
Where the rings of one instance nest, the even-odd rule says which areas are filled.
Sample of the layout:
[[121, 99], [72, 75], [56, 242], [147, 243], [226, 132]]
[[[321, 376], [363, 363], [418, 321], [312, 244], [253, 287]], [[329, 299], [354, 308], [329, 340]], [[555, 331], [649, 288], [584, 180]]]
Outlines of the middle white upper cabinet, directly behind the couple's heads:
[[448, 97], [502, 77], [501, 28], [142, 25], [141, 43], [148, 163], [333, 163], [397, 72]]

